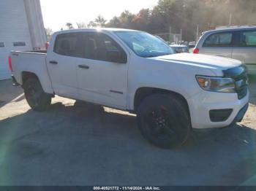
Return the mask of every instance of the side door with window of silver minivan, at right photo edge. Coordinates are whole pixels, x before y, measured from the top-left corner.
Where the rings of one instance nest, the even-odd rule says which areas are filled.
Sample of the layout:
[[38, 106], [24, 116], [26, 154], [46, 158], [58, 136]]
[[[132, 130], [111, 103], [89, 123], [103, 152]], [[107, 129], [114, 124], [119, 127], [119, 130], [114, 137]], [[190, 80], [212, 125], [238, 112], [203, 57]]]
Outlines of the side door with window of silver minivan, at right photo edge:
[[249, 65], [256, 65], [256, 30], [238, 31], [232, 58]]

